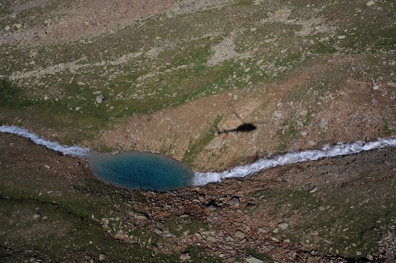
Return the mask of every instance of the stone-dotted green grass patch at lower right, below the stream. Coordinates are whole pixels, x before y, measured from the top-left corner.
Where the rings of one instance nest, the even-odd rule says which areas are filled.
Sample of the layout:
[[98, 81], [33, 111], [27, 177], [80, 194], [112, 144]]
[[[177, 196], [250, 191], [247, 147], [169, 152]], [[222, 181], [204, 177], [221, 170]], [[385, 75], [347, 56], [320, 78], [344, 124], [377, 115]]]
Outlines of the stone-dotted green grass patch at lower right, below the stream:
[[289, 224], [286, 230], [272, 233], [276, 238], [296, 243], [310, 240], [320, 252], [359, 258], [356, 252], [361, 252], [360, 257], [375, 252], [377, 241], [395, 227], [394, 205], [389, 204], [395, 198], [394, 188], [395, 180], [389, 178], [321, 190], [320, 195], [307, 190], [266, 190], [250, 195], [263, 197], [256, 212], [274, 207], [269, 215]]

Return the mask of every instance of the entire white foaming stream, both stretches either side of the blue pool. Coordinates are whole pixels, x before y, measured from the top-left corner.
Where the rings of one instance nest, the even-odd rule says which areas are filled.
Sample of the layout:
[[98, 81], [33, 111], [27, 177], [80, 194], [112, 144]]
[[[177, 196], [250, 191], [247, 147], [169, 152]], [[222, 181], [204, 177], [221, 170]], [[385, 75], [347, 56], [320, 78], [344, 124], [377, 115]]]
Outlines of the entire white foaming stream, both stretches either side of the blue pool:
[[[32, 133], [18, 126], [0, 126], [0, 133], [11, 133], [22, 137], [30, 138], [35, 144], [43, 145], [48, 149], [61, 152], [62, 154], [70, 154], [78, 157], [85, 157], [89, 152], [89, 149], [80, 147], [78, 145], [65, 146], [60, 145], [57, 142], [51, 142], [45, 138], [39, 137], [35, 133]], [[378, 138], [373, 142], [339, 142], [334, 146], [327, 146], [322, 149], [306, 150], [301, 152], [292, 152], [289, 154], [278, 155], [274, 157], [263, 158], [255, 161], [252, 164], [245, 166], [236, 166], [228, 171], [221, 173], [207, 172], [200, 173], [194, 172], [192, 178], [192, 185], [206, 185], [207, 183], [220, 182], [226, 178], [233, 177], [245, 177], [252, 173], [268, 169], [275, 166], [284, 166], [286, 164], [296, 164], [303, 161], [315, 161], [322, 158], [331, 158], [349, 154], [357, 154], [362, 151], [369, 151], [371, 149], [380, 149], [383, 147], [396, 147], [396, 136], [388, 138]]]

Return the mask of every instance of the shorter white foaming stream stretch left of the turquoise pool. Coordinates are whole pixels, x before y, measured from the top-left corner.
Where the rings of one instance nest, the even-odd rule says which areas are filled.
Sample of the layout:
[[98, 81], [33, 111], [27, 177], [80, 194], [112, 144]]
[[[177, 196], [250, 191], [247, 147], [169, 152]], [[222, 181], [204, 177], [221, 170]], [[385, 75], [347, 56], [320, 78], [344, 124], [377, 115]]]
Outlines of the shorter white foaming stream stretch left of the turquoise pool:
[[25, 138], [29, 138], [36, 145], [43, 145], [48, 149], [53, 149], [54, 151], [62, 152], [62, 154], [70, 154], [70, 155], [76, 155], [78, 157], [83, 157], [83, 155], [85, 155], [88, 152], [88, 149], [84, 149], [83, 147], [80, 147], [78, 145], [64, 146], [64, 145], [59, 145], [59, 143], [57, 142], [50, 142], [49, 140], [45, 140], [44, 138], [39, 137], [35, 133], [32, 133], [23, 128], [19, 128], [17, 126], [0, 126], [0, 133], [11, 133]]

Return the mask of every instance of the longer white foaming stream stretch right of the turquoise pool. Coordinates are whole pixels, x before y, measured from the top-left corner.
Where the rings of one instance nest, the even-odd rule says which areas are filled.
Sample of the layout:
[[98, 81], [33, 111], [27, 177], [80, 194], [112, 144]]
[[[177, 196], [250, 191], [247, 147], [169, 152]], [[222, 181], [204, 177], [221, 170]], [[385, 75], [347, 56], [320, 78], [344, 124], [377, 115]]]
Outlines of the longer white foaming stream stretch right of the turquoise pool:
[[268, 169], [275, 166], [284, 166], [286, 164], [296, 164], [302, 161], [315, 161], [322, 158], [337, 157], [342, 155], [356, 154], [362, 151], [378, 149], [383, 147], [396, 147], [396, 136], [392, 138], [379, 138], [374, 142], [351, 142], [339, 143], [338, 145], [325, 147], [323, 149], [314, 149], [303, 152], [284, 154], [267, 159], [260, 159], [246, 166], [237, 166], [229, 171], [222, 173], [194, 173], [192, 183], [194, 185], [206, 185], [206, 183], [220, 182], [225, 178], [245, 177], [257, 171]]

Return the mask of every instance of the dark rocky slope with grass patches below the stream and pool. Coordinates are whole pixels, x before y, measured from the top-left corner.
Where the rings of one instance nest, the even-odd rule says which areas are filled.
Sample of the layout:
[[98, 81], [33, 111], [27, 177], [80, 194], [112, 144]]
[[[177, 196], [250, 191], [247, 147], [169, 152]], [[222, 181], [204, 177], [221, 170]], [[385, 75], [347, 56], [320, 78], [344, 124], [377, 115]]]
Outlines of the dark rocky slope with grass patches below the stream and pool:
[[2, 262], [394, 262], [396, 149], [169, 192], [1, 134]]

